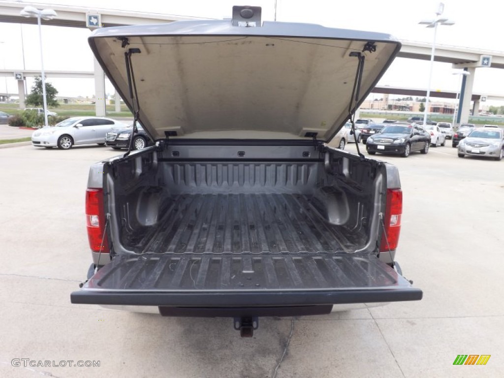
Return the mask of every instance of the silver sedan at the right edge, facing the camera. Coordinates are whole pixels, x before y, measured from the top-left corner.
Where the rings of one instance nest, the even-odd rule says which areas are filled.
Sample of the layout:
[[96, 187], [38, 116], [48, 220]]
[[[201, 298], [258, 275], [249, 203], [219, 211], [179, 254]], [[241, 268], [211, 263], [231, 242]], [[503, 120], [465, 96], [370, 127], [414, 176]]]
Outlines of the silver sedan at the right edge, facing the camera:
[[504, 156], [502, 129], [475, 129], [459, 143], [459, 157], [483, 156], [501, 160]]

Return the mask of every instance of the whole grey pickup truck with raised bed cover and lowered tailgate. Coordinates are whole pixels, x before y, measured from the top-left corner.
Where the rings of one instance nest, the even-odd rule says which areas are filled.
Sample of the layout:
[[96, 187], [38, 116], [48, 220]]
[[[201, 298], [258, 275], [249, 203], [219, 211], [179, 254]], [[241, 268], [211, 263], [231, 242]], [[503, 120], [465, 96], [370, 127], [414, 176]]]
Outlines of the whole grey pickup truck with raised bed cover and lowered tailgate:
[[400, 42], [235, 8], [89, 37], [155, 145], [91, 166], [93, 263], [72, 303], [229, 317], [251, 336], [262, 316], [421, 299], [395, 262], [398, 169], [328, 145]]

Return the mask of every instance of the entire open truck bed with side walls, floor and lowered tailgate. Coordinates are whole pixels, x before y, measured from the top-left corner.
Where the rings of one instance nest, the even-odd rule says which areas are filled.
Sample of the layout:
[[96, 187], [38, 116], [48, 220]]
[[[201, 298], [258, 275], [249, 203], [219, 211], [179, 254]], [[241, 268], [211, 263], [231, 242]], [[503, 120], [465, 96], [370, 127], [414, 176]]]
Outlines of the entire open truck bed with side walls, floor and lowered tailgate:
[[[285, 314], [280, 307], [421, 298], [375, 253], [382, 166], [346, 155], [326, 159], [328, 167], [318, 155], [288, 160], [309, 152], [304, 145], [272, 146], [274, 161], [215, 157], [233, 148], [181, 144], [162, 159], [144, 152], [105, 167], [112, 261], [72, 302], [243, 307], [247, 316], [275, 307], [271, 316]], [[265, 154], [255, 149], [239, 147]]]

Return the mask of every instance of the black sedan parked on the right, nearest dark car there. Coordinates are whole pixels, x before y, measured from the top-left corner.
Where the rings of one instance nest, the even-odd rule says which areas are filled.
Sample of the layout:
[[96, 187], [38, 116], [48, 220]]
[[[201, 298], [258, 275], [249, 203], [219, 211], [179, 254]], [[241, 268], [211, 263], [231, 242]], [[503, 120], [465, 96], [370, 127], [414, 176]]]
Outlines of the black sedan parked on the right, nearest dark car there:
[[366, 150], [369, 155], [380, 152], [408, 157], [413, 151], [426, 154], [429, 145], [430, 135], [420, 125], [392, 123], [367, 139]]

